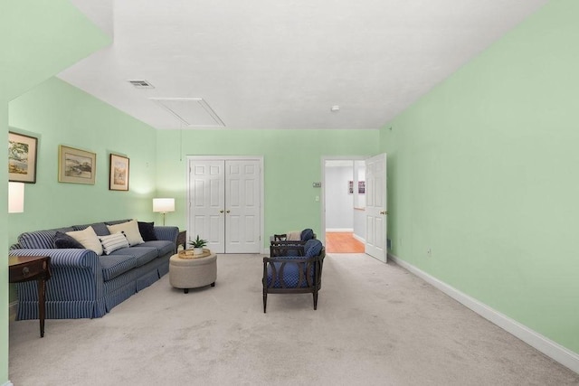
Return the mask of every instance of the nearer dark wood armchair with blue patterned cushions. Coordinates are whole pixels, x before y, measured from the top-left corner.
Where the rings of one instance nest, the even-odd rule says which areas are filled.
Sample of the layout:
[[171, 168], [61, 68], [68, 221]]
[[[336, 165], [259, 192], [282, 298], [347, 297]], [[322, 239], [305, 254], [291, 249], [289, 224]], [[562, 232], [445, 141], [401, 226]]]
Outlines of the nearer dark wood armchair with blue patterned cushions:
[[263, 313], [268, 294], [305, 294], [314, 297], [318, 309], [318, 291], [321, 288], [322, 267], [326, 249], [320, 240], [305, 243], [285, 243], [270, 246], [271, 257], [263, 258]]

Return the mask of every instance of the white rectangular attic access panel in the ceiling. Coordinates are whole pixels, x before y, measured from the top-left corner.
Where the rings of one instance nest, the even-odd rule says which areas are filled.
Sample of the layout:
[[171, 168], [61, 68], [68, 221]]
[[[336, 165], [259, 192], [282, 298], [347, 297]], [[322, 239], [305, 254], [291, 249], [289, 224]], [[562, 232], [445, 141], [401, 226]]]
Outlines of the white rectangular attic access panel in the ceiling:
[[202, 98], [151, 98], [162, 108], [179, 119], [187, 127], [225, 127]]

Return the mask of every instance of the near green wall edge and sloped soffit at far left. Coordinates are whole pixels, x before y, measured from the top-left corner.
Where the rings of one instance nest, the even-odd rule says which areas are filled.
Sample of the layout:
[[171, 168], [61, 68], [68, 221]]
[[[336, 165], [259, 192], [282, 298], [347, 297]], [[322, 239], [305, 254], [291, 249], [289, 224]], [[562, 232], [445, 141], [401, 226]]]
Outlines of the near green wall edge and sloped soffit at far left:
[[[0, 138], [7, 141], [10, 100], [108, 45], [110, 39], [66, 0], [2, 0], [1, 4]], [[6, 147], [0, 156], [4, 157], [7, 165]], [[0, 178], [8, 180], [6, 166], [0, 172]], [[7, 204], [6, 183], [0, 189], [0, 202]], [[13, 229], [14, 215], [2, 216], [0, 220], [0, 249], [5, 251], [8, 249], [8, 232]], [[0, 384], [5, 384], [8, 381], [8, 260], [2, 261]]]

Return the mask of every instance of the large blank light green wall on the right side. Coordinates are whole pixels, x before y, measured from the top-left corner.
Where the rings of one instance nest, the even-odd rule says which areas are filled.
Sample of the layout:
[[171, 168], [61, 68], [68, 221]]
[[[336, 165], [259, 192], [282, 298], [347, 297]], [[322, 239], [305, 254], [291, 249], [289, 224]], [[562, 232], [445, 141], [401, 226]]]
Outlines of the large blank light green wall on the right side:
[[381, 130], [394, 255], [575, 353], [578, 14], [550, 2]]

